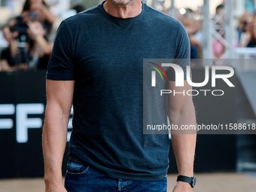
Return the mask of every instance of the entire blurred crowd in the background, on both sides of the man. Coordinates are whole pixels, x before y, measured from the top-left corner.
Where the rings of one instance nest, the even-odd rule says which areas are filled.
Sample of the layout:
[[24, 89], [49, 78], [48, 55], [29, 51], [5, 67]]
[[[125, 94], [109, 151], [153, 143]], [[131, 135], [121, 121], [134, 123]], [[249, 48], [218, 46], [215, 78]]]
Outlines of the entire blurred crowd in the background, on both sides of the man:
[[[164, 2], [164, 1], [163, 1]], [[163, 4], [157, 9], [170, 14]], [[225, 39], [225, 11], [224, 4], [215, 8], [216, 32]], [[83, 5], [75, 5], [72, 14], [86, 10]], [[236, 35], [233, 35], [233, 47], [256, 47], [256, 14], [254, 8], [247, 8], [242, 17], [237, 20]], [[72, 14], [66, 14], [69, 17]], [[0, 16], [1, 17], [1, 16]], [[2, 49], [0, 57], [0, 71], [46, 69], [53, 48], [53, 40], [57, 26], [65, 17], [58, 17], [50, 11], [44, 0], [26, 0], [18, 16], [9, 18], [2, 25], [2, 35], [8, 42], [8, 47]], [[190, 8], [175, 9], [175, 18], [181, 21], [187, 30], [191, 45], [191, 59], [203, 58], [203, 7], [197, 11]], [[57, 23], [57, 24], [56, 24]], [[212, 40], [212, 54], [215, 58], [222, 58], [225, 49], [218, 38]], [[191, 62], [192, 68], [200, 67], [197, 62]]]

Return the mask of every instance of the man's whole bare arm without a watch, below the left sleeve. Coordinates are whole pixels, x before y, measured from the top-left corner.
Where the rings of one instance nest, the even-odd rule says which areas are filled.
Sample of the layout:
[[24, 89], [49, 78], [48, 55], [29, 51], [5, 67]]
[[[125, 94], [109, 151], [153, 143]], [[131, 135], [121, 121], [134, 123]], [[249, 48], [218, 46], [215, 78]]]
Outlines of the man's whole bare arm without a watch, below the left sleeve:
[[62, 184], [62, 158], [75, 81], [46, 81], [47, 106], [43, 129], [45, 191], [66, 191]]

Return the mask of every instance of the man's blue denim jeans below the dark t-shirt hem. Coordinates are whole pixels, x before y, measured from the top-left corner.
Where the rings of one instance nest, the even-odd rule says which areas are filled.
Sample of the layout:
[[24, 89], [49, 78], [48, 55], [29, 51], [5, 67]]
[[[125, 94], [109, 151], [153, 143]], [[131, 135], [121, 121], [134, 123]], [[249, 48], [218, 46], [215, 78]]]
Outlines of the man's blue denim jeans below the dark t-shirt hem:
[[68, 192], [166, 192], [167, 176], [159, 181], [128, 181], [108, 178], [90, 165], [71, 159], [65, 178]]

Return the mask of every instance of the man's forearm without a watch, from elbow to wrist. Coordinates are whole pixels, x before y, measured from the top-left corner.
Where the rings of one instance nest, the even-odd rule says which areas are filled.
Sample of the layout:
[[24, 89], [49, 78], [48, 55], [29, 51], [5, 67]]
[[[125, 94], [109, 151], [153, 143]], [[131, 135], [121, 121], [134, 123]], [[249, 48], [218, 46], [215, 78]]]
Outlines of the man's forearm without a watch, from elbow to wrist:
[[46, 184], [62, 182], [62, 158], [66, 148], [69, 117], [60, 108], [47, 104], [43, 130], [44, 181]]

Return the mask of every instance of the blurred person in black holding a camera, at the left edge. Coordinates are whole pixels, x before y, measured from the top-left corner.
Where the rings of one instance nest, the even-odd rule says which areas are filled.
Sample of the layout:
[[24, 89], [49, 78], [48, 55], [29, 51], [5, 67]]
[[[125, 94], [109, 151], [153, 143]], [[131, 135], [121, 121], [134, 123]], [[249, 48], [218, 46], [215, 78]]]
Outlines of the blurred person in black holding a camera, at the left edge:
[[2, 59], [2, 71], [47, 68], [53, 43], [47, 41], [44, 23], [26, 20], [27, 18], [17, 17], [10, 22], [10, 47], [2, 53], [2, 58], [6, 58]]

